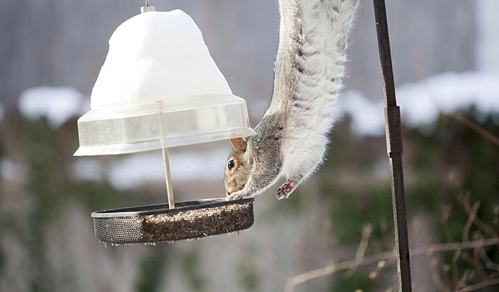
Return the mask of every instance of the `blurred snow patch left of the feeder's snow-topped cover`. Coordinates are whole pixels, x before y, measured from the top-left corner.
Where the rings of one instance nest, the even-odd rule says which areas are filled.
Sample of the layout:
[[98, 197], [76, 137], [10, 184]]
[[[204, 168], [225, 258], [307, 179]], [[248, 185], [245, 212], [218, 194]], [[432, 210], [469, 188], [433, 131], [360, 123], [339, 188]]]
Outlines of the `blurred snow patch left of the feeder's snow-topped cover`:
[[74, 88], [39, 86], [21, 93], [19, 111], [30, 120], [46, 117], [52, 127], [59, 127], [69, 118], [84, 113], [87, 103]]

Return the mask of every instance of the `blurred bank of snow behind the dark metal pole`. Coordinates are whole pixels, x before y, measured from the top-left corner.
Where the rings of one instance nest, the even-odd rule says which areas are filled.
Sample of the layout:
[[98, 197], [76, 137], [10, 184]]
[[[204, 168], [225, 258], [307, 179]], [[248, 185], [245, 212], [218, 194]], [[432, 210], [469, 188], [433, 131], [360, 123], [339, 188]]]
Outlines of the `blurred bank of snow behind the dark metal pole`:
[[[475, 105], [481, 113], [499, 112], [499, 73], [443, 73], [426, 81], [396, 88], [406, 127], [431, 125], [438, 108], [453, 111]], [[351, 116], [357, 135], [384, 135], [384, 101], [373, 100], [359, 91], [348, 90], [340, 98], [344, 114]]]

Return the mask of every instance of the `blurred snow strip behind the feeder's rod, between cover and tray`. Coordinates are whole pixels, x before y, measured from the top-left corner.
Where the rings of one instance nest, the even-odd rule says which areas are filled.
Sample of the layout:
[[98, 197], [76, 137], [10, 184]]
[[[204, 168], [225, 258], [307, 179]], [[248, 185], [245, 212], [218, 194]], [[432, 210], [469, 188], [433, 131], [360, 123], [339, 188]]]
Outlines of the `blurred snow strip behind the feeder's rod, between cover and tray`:
[[[206, 152], [170, 151], [172, 180], [223, 181], [225, 160], [230, 147]], [[160, 151], [130, 155], [111, 165], [108, 180], [116, 189], [129, 189], [148, 182], [164, 182], [165, 167]]]

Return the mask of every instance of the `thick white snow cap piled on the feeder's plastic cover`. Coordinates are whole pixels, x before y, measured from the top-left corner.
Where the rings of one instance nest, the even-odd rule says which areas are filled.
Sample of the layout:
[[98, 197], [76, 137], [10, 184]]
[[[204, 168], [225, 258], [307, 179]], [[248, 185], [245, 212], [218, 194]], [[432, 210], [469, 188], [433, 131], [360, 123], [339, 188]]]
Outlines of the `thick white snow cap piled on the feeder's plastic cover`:
[[133, 16], [109, 39], [91, 108], [197, 95], [232, 95], [200, 29], [184, 11]]

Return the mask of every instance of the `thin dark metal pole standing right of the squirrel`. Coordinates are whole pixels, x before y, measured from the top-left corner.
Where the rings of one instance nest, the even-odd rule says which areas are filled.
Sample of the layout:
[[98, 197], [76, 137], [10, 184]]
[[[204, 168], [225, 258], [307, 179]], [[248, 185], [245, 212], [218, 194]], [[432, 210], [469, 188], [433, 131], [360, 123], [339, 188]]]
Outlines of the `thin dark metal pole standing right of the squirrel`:
[[400, 108], [397, 106], [395, 98], [393, 69], [391, 67], [390, 39], [388, 24], [386, 23], [384, 0], [374, 0], [374, 15], [376, 16], [381, 72], [383, 73], [386, 150], [390, 160], [393, 221], [395, 223], [395, 244], [397, 248], [398, 287], [401, 292], [411, 292], [411, 263], [407, 236], [406, 202], [403, 190], [401, 118]]

